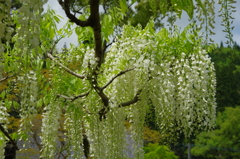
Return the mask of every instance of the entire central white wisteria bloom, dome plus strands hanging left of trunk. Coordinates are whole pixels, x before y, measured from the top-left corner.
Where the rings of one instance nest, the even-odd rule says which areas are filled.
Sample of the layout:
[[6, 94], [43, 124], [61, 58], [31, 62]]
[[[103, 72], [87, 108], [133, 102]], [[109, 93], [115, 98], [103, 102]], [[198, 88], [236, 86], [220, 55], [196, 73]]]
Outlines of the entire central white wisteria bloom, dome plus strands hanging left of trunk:
[[[66, 103], [63, 107], [67, 110], [64, 115], [69, 153], [74, 158], [83, 157], [84, 152], [81, 150], [84, 149], [84, 136], [87, 136], [92, 157], [127, 158], [124, 126], [127, 120], [131, 123], [129, 131], [134, 156], [143, 158], [140, 148], [143, 144], [142, 129], [150, 105], [155, 107], [157, 122], [163, 134], [184, 133], [190, 137], [197, 130], [211, 129], [215, 117], [216, 80], [213, 64], [200, 44], [201, 41], [192, 43], [185, 33], [181, 34], [178, 30], [173, 36], [166, 29], [154, 34], [150, 24], [144, 30], [126, 26], [122, 36], [107, 52], [103, 69], [100, 70], [101, 85], [123, 72], [106, 87], [110, 104], [104, 120], [99, 120], [99, 110], [103, 108], [103, 103], [97, 92], [91, 90], [91, 81], [88, 78], [78, 81], [71, 78], [71, 83], [82, 86], [79, 93], [89, 92], [84, 98], [74, 99], [74, 102]], [[93, 50], [88, 48], [85, 51], [84, 62], [78, 73], [91, 77], [89, 66], [95, 67], [97, 60], [92, 56]], [[61, 75], [53, 79], [58, 85], [62, 82], [61, 87], [52, 88], [53, 92], [65, 90], [63, 88], [68, 84], [67, 79]], [[65, 90], [64, 94], [68, 94], [68, 91]], [[139, 94], [139, 101], [124, 106], [123, 103], [136, 94]], [[60, 117], [59, 108], [55, 105], [46, 107], [47, 113], [43, 120], [44, 149], [52, 151], [43, 151], [45, 157], [55, 151], [57, 138], [54, 134], [58, 128], [55, 122]], [[50, 112], [54, 114], [48, 115]]]

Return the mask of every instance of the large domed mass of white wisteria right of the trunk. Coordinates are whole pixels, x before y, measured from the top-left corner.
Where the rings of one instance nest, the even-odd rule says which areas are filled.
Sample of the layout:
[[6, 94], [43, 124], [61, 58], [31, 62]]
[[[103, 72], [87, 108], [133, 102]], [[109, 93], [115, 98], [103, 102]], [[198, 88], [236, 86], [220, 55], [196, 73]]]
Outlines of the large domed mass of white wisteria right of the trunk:
[[108, 52], [106, 65], [109, 69], [105, 77], [133, 68], [107, 91], [117, 104], [142, 91], [140, 102], [126, 111], [133, 118], [132, 126], [138, 124], [134, 131], [141, 130], [149, 104], [155, 107], [163, 134], [184, 133], [190, 137], [198, 130], [213, 128], [216, 79], [213, 64], [200, 41], [191, 43], [177, 30], [170, 37], [165, 29], [155, 35], [151, 29], [126, 27]]

